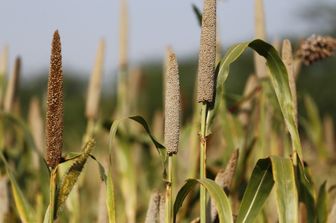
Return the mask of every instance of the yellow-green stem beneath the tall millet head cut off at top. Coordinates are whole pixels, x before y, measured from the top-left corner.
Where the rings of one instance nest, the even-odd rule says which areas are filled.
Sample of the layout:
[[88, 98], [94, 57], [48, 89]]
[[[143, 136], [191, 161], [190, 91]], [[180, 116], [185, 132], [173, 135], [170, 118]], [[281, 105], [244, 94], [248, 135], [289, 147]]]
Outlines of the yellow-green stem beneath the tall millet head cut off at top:
[[[206, 129], [207, 129], [207, 113], [208, 105], [203, 103], [201, 107], [201, 132], [200, 132], [200, 179], [206, 178]], [[200, 220], [201, 223], [206, 223], [206, 200], [207, 194], [203, 186], [200, 191]]]

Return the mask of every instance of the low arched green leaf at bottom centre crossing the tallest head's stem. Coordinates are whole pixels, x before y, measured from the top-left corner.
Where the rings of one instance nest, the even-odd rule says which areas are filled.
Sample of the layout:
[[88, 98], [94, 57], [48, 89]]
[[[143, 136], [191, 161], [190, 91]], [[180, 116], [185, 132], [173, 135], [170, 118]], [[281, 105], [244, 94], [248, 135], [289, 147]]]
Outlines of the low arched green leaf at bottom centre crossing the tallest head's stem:
[[218, 217], [220, 222], [233, 222], [232, 210], [228, 197], [224, 190], [210, 179], [188, 179], [182, 188], [178, 191], [174, 203], [174, 222], [176, 222], [176, 215], [183, 204], [184, 199], [188, 193], [199, 183], [209, 192], [211, 199], [215, 202]]

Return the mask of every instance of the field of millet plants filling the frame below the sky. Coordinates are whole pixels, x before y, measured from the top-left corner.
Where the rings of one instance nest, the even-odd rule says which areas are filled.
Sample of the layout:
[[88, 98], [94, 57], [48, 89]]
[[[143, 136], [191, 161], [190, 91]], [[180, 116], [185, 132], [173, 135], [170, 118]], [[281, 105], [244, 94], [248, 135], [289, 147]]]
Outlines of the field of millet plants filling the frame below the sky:
[[83, 97], [63, 74], [61, 29], [34, 91], [20, 89], [25, 58], [8, 72], [0, 46], [0, 223], [336, 222], [336, 116], [300, 90], [306, 73], [335, 64], [336, 36], [269, 42], [255, 0], [255, 39], [223, 46], [218, 3], [201, 2], [190, 6], [197, 62], [167, 47], [153, 78], [129, 65], [121, 0], [113, 95], [103, 94], [104, 39]]

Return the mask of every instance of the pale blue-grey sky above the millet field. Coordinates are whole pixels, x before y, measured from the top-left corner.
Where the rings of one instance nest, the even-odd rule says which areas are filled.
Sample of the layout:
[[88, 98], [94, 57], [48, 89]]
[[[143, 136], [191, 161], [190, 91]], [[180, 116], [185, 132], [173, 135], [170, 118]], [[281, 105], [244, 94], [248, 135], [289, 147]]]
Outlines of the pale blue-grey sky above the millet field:
[[[58, 29], [63, 67], [88, 75], [100, 38], [106, 41], [105, 71], [118, 64], [120, 0], [0, 0], [0, 50], [10, 49], [10, 67], [20, 55], [23, 76], [47, 70], [50, 42]], [[292, 33], [306, 35], [308, 25], [298, 15], [316, 0], [264, 0], [270, 39]], [[327, 1], [327, 0], [324, 0]], [[335, 2], [336, 0], [329, 0]], [[129, 59], [137, 66], [163, 59], [171, 46], [178, 59], [197, 53], [200, 28], [191, 4], [201, 0], [128, 0]], [[253, 39], [253, 0], [218, 0], [219, 30], [223, 45]]]

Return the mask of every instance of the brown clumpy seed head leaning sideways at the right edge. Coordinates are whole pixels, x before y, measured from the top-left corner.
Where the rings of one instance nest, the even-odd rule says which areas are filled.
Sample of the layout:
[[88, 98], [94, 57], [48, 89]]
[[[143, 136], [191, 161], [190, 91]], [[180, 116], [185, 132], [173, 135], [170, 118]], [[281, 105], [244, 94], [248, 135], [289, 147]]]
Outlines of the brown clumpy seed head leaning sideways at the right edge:
[[302, 42], [297, 56], [305, 65], [331, 57], [336, 51], [336, 39], [331, 36], [312, 35]]

